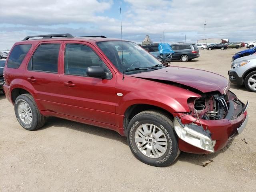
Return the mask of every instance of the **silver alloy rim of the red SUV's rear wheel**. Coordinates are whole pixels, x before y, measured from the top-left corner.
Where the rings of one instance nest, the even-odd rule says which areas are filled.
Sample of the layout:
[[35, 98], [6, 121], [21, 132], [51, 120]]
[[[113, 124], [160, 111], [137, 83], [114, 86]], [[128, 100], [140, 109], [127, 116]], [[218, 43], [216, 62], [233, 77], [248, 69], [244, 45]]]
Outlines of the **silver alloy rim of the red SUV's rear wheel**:
[[25, 102], [20, 102], [18, 106], [18, 114], [24, 124], [30, 124], [32, 122], [32, 111], [30, 106]]

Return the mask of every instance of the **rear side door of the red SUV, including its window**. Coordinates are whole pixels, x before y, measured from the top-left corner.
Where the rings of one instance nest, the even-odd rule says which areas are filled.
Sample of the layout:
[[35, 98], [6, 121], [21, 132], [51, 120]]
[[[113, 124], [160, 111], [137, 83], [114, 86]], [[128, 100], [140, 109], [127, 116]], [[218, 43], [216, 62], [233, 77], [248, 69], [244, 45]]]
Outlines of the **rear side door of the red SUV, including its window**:
[[59, 52], [62, 42], [42, 42], [34, 50], [24, 74], [40, 110], [61, 112]]

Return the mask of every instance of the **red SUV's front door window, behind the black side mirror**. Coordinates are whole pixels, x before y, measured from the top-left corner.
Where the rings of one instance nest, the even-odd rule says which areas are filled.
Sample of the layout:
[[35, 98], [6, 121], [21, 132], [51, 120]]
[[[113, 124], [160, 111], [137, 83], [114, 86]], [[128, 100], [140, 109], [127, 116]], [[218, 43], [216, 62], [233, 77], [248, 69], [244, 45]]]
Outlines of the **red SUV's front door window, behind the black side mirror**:
[[86, 69], [91, 66], [100, 66], [109, 72], [98, 55], [90, 47], [81, 44], [66, 45], [64, 65], [64, 74], [87, 76]]

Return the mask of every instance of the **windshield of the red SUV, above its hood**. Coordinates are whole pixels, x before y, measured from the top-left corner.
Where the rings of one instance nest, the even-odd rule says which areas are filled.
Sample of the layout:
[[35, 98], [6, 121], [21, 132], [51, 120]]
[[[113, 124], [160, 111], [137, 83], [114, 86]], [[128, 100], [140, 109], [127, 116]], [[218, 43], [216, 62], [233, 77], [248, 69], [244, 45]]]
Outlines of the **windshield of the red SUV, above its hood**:
[[[136, 43], [128, 41], [103, 41], [97, 43], [108, 59], [118, 68], [120, 72], [134, 68], [162, 66], [162, 63], [146, 52]], [[122, 57], [123, 44], [123, 57]], [[123, 66], [122, 66], [123, 63]], [[142, 71], [137, 71], [142, 72]]]

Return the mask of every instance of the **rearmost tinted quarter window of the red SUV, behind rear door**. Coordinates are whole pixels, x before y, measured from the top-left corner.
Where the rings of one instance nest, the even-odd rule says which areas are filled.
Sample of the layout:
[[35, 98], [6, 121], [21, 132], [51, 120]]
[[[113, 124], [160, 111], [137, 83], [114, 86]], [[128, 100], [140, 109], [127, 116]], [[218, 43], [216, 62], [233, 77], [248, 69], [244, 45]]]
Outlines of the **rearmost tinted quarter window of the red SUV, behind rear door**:
[[31, 48], [31, 44], [16, 45], [8, 58], [7, 67], [17, 69]]

